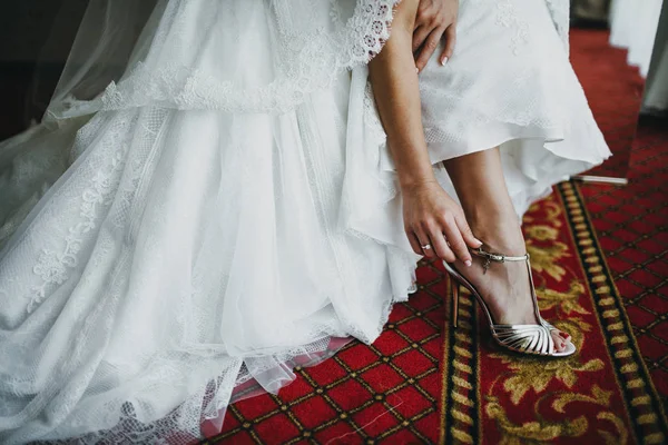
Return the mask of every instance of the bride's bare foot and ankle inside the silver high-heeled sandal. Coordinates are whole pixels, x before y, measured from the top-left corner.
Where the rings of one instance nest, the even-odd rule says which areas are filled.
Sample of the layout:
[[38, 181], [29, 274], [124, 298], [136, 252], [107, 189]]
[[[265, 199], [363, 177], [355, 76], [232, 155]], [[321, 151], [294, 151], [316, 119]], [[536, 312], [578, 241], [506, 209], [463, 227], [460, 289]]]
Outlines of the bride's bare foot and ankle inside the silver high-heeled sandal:
[[[512, 219], [507, 219], [507, 221], [508, 224], [504, 226], [497, 220], [495, 224], [492, 222], [495, 227], [491, 229], [481, 225], [471, 227], [475, 236], [484, 241], [483, 249], [485, 251], [505, 256], [523, 256], [527, 250], [517, 217], [514, 217], [514, 224], [511, 224]], [[539, 323], [533, 308], [529, 273], [524, 261], [505, 261], [503, 264], [492, 261], [484, 274], [482, 267], [484, 258], [473, 255], [472, 263], [471, 267], [466, 267], [459, 260], [453, 265], [481, 295], [494, 324], [533, 325]], [[551, 336], [554, 340], [556, 352], [564, 352], [567, 343], [570, 342], [570, 335], [561, 330], [552, 330]]]

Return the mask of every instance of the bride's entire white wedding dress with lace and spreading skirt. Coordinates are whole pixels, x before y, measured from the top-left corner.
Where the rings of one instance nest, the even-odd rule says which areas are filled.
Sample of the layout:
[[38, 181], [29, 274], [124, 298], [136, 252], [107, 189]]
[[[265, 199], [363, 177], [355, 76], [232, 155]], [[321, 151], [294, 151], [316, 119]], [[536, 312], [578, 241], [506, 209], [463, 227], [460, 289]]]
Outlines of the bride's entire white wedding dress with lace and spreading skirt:
[[[90, 3], [43, 122], [0, 144], [0, 443], [185, 443], [379, 336], [419, 259], [367, 83], [393, 3]], [[609, 156], [567, 32], [568, 0], [461, 1], [420, 75], [453, 196], [440, 161], [475, 150], [518, 214]]]

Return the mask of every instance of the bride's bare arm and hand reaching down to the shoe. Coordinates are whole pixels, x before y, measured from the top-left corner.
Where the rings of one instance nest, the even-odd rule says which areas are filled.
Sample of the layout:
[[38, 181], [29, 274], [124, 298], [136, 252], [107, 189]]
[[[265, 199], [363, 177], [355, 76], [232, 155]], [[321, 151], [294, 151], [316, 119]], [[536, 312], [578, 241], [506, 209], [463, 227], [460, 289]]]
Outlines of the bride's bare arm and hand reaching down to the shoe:
[[[413, 250], [470, 264], [466, 249], [481, 245], [466, 224], [462, 209], [436, 182], [424, 140], [418, 72], [412, 42], [419, 0], [403, 0], [392, 34], [369, 65], [381, 120], [403, 197], [404, 227]], [[448, 243], [446, 243], [448, 240]], [[421, 246], [431, 245], [432, 249]]]

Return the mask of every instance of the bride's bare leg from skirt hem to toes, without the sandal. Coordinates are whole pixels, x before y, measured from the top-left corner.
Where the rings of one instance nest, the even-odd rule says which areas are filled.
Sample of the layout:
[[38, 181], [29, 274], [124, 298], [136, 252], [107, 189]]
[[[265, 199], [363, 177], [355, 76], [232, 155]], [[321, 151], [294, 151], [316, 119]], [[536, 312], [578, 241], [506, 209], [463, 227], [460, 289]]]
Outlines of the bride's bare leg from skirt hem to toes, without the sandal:
[[[524, 238], [505, 188], [499, 148], [461, 156], [444, 164], [471, 229], [485, 248], [510, 256], [524, 255]], [[479, 259], [473, 260], [471, 268], [461, 267], [461, 263], [458, 266], [481, 293], [495, 323], [538, 323], [529, 298], [529, 274], [523, 263], [492, 264], [485, 275]], [[552, 337], [557, 350], [563, 350], [568, 334], [553, 333]]]

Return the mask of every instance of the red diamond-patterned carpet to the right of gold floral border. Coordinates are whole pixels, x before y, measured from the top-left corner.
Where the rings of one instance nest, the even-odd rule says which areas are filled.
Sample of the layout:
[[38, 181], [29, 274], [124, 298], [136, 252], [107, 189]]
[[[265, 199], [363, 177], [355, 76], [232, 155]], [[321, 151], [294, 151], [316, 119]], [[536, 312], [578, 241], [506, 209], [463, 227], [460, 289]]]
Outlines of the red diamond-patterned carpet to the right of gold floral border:
[[626, 187], [580, 186], [640, 352], [668, 402], [668, 128], [647, 119]]

